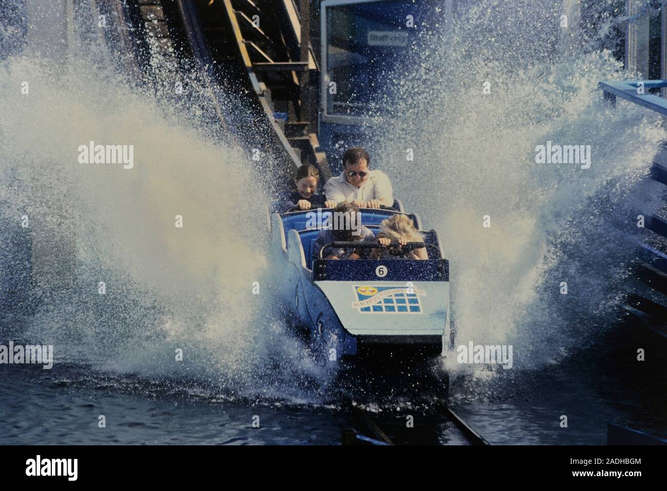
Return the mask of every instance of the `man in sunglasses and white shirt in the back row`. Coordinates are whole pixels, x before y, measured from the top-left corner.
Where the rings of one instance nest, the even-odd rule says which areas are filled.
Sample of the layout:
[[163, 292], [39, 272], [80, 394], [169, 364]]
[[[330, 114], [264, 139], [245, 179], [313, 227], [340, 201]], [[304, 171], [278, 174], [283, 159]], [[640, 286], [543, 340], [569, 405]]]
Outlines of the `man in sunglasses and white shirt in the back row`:
[[361, 147], [348, 148], [343, 155], [343, 172], [324, 185], [327, 201], [348, 201], [360, 208], [394, 206], [394, 190], [386, 173], [369, 170], [371, 157]]

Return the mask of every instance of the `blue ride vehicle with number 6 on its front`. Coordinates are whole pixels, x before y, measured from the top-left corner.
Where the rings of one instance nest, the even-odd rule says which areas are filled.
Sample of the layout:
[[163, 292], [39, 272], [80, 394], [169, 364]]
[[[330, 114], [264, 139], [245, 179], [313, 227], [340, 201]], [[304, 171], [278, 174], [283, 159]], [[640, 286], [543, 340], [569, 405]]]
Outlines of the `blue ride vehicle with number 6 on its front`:
[[[361, 223], [377, 235], [380, 222], [396, 209], [362, 209]], [[331, 209], [321, 209], [322, 217]], [[449, 262], [436, 231], [424, 231], [418, 215], [408, 214], [424, 234], [428, 260], [326, 260], [315, 250], [319, 228], [308, 227], [308, 213], [271, 213], [271, 247], [283, 278], [279, 289], [291, 314], [310, 331], [326, 356], [355, 356], [374, 348], [440, 354], [453, 346], [450, 328]], [[358, 248], [360, 243], [355, 243]], [[378, 248], [377, 243], [365, 243]], [[335, 243], [335, 247], [342, 243]], [[323, 249], [323, 248], [322, 248]], [[410, 348], [410, 350], [408, 350]], [[335, 350], [335, 351], [332, 351]]]

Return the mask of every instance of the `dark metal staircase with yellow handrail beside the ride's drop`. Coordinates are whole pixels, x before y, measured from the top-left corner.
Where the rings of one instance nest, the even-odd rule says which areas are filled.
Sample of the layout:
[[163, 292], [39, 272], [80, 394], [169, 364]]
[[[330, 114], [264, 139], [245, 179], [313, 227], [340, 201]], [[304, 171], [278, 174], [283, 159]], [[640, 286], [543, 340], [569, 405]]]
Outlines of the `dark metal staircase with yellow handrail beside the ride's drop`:
[[328, 179], [329, 165], [317, 139], [319, 69], [309, 45], [309, 1], [302, 0], [300, 8], [293, 0], [194, 3], [214, 62], [223, 65], [223, 73], [225, 64], [242, 63], [248, 89], [291, 167], [312, 163], [322, 181]]

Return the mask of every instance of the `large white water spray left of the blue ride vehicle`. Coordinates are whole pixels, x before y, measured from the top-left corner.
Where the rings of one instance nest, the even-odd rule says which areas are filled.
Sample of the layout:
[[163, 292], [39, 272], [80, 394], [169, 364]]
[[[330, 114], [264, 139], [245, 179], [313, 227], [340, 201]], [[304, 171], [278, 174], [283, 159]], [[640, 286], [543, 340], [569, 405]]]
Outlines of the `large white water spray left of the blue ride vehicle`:
[[[85, 61], [9, 59], [0, 93], [3, 221], [28, 215], [37, 243], [57, 237], [22, 338], [54, 344], [65, 364], [301, 398], [318, 369], [271, 299], [266, 198], [241, 149]], [[89, 141], [133, 145], [133, 168], [79, 163]]]

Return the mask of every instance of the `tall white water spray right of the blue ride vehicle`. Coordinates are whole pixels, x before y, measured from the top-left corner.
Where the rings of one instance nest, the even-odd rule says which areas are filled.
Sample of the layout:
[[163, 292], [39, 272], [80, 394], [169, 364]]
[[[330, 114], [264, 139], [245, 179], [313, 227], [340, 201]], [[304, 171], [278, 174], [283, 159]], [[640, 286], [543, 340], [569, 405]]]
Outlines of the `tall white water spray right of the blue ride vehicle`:
[[[659, 199], [642, 189], [655, 187], [646, 175], [664, 130], [655, 113], [604, 103], [598, 81], [629, 78], [609, 51], [581, 39], [558, 49], [558, 5], [466, 9], [402, 82], [405, 117], [382, 134], [385, 166], [442, 237], [456, 345], [511, 344], [515, 367], [540, 366], [614, 319], [636, 215]], [[591, 145], [590, 169], [536, 163], [547, 141]], [[447, 365], [470, 369], [456, 356]]]

